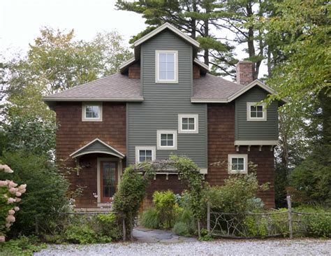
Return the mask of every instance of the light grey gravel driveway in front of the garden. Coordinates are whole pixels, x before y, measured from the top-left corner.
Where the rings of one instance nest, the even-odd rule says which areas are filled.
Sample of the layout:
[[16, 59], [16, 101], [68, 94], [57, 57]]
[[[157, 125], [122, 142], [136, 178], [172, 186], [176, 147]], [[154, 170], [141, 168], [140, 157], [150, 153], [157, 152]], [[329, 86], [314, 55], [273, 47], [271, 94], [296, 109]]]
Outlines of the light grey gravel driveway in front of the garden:
[[90, 246], [49, 246], [34, 255], [331, 255], [331, 240], [219, 240], [173, 244], [107, 243]]

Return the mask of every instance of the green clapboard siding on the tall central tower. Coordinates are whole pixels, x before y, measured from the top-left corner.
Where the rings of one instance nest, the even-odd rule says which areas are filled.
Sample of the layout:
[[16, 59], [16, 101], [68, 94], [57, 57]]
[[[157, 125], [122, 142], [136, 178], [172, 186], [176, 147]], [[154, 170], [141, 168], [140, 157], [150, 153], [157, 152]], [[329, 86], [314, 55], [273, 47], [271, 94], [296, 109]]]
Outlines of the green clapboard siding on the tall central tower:
[[[155, 50], [178, 50], [179, 83], [155, 83]], [[177, 150], [156, 150], [156, 159], [171, 153], [186, 155], [200, 168], [207, 167], [207, 104], [191, 104], [192, 47], [163, 31], [141, 48], [141, 82], [144, 101], [128, 103], [128, 163], [135, 162], [135, 146], [156, 147], [157, 129], [178, 129], [179, 113], [199, 115], [199, 134], [177, 134]]]

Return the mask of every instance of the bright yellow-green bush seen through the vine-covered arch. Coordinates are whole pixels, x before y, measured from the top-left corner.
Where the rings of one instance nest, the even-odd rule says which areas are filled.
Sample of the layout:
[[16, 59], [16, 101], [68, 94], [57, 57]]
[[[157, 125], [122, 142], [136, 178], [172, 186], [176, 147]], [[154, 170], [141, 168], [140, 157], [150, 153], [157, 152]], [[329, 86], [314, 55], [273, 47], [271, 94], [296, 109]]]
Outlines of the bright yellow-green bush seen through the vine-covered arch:
[[176, 208], [178, 208], [174, 192], [171, 190], [154, 192], [153, 203], [159, 214], [161, 227], [170, 229], [174, 224]]

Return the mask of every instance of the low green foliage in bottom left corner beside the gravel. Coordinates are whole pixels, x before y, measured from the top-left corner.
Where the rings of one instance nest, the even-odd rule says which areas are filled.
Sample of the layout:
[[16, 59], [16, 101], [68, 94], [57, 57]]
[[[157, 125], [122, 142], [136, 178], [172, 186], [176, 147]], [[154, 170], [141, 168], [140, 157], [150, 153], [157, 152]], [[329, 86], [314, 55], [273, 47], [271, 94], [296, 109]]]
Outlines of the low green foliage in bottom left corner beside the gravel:
[[1, 255], [30, 256], [46, 248], [36, 236], [19, 236], [5, 243], [0, 243]]

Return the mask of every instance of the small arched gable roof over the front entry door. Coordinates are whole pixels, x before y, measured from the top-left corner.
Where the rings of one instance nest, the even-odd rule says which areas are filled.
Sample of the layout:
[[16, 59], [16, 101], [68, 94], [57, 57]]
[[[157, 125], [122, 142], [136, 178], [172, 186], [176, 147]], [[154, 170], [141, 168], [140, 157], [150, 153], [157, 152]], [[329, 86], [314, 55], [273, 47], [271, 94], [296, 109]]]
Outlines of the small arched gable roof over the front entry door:
[[87, 155], [91, 153], [102, 153], [107, 155], [114, 155], [115, 157], [119, 157], [123, 159], [125, 155], [122, 152], [119, 152], [115, 148], [112, 148], [112, 146], [108, 145], [107, 143], [101, 141], [100, 139], [96, 138], [93, 141], [87, 143], [82, 148], [76, 150], [73, 152], [70, 156], [80, 157], [81, 155]]

